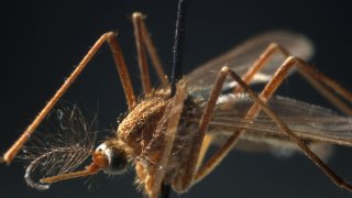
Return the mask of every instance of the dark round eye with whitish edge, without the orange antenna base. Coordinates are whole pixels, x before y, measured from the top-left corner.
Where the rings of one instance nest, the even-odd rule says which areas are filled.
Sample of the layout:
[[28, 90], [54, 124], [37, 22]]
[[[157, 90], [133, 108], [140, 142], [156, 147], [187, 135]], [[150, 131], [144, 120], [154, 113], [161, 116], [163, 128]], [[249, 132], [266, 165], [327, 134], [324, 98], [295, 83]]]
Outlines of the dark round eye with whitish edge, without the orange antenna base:
[[110, 175], [120, 175], [128, 168], [128, 156], [122, 147], [109, 146], [107, 143], [100, 144], [96, 152], [101, 153], [107, 160], [108, 164], [103, 172]]

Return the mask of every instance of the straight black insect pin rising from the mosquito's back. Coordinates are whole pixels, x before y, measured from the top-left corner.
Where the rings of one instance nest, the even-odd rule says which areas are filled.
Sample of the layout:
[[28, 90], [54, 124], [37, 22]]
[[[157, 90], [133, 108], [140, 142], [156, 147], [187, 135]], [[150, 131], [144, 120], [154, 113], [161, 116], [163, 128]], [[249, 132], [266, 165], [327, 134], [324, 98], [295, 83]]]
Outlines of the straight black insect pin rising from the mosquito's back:
[[172, 97], [176, 92], [176, 84], [183, 76], [183, 62], [185, 54], [185, 33], [186, 33], [186, 15], [187, 15], [187, 4], [188, 0], [178, 1], [178, 11], [176, 20], [176, 31], [175, 31], [175, 44], [173, 51], [173, 68], [172, 68]]

